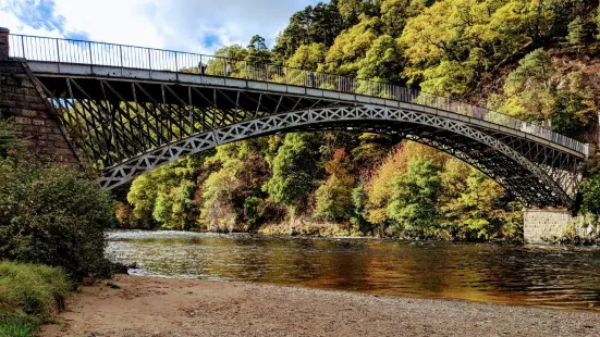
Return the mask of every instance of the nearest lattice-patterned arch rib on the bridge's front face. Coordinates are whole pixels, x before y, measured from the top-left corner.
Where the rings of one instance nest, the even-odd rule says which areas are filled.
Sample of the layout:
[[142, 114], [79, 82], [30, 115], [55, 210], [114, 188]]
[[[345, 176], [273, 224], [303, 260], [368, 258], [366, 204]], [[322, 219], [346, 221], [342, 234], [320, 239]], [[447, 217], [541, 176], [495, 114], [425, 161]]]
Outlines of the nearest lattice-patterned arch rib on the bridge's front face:
[[[427, 125], [463, 135], [503, 153], [538, 177], [566, 205], [573, 200], [566, 192], [539, 166], [524, 158], [500, 140], [477, 130], [464, 122], [431, 116], [414, 111], [362, 105], [353, 108], [328, 108], [305, 110], [298, 112], [271, 115], [262, 118], [237, 123], [226, 127], [193, 135], [181, 141], [172, 142], [154, 149], [148, 153], [126, 160], [105, 171], [101, 178], [103, 188], [112, 189], [131, 182], [137, 175], [173, 162], [184, 155], [194, 154], [213, 148], [218, 145], [266, 136], [278, 132], [306, 127], [319, 123], [364, 121], [406, 122]], [[536, 202], [536, 201], [534, 201]]]

